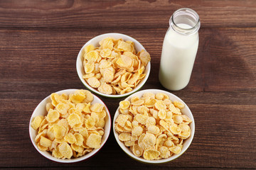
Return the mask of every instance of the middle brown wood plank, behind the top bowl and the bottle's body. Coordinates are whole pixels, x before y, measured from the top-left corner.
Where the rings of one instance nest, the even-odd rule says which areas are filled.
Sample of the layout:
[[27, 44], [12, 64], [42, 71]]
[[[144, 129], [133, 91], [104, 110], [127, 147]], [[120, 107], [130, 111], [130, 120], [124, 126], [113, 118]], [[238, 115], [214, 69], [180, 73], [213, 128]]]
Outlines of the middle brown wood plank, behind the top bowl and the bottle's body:
[[[154, 66], [147, 88], [162, 88], [158, 72], [164, 28], [1, 29], [0, 91], [82, 88], [75, 69], [80, 47], [110, 32], [125, 33], [144, 45]], [[255, 28], [202, 28], [191, 81], [183, 91], [255, 91], [255, 35]]]

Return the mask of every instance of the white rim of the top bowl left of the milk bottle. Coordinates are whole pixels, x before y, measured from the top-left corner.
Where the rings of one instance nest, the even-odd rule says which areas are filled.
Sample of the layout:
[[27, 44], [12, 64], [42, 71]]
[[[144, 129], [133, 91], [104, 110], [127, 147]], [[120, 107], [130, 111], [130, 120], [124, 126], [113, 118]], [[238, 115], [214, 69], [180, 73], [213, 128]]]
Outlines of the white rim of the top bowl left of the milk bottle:
[[[147, 73], [146, 76], [142, 79], [142, 81], [139, 82], [139, 84], [134, 89], [132, 89], [132, 91], [129, 91], [128, 93], [125, 93], [125, 94], [102, 94], [102, 93], [100, 93], [100, 91], [97, 91], [96, 89], [92, 88], [89, 84], [87, 84], [87, 82], [84, 79], [82, 79], [82, 71], [80, 70], [80, 64], [82, 64], [82, 60], [81, 60], [82, 50], [84, 49], [85, 46], [92, 44], [92, 41], [94, 41], [95, 39], [103, 39], [103, 38], [107, 38], [107, 37], [114, 37], [114, 38], [122, 37], [122, 39], [126, 38], [124, 40], [130, 39], [134, 42], [134, 45], [138, 45], [142, 48], [142, 50], [145, 50], [144, 46], [138, 40], [130, 37], [129, 35], [125, 35], [122, 33], [105, 33], [105, 34], [97, 35], [96, 37], [88, 40], [80, 48], [80, 51], [78, 52], [78, 57], [76, 60], [76, 70], [78, 73], [78, 77], [79, 77], [80, 81], [82, 81], [82, 84], [84, 84], [84, 86], [88, 90], [94, 92], [95, 94], [99, 94], [100, 96], [105, 96], [105, 97], [109, 97], [109, 98], [122, 98], [124, 96], [129, 96], [129, 95], [135, 93], [136, 91], [139, 91], [139, 89], [141, 89], [142, 86], [144, 86], [144, 84], [146, 83], [147, 79], [149, 78], [149, 74], [150, 74], [150, 70], [151, 70], [150, 62], [148, 62], [148, 64], [146, 65], [146, 68], [145, 68], [145, 72]], [[83, 65], [82, 65], [82, 67], [83, 67]]]

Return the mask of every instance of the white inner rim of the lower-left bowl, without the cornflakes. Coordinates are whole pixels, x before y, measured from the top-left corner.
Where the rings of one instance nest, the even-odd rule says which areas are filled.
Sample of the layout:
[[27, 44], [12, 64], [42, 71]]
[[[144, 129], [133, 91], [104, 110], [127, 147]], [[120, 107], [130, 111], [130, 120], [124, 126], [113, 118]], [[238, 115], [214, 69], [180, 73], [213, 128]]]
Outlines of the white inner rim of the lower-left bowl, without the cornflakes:
[[[56, 92], [53, 92], [53, 93], [56, 93], [56, 94], [71, 94], [75, 91], [77, 91], [79, 89], [65, 89], [65, 90], [61, 90], [61, 91], [56, 91]], [[52, 94], [52, 93], [51, 93]], [[105, 108], [106, 108], [106, 112], [107, 112], [107, 121], [106, 121], [106, 124], [105, 124], [105, 134], [103, 136], [105, 136], [105, 140], [102, 140], [102, 143], [100, 145], [100, 148], [98, 149], [93, 149], [92, 152], [90, 153], [87, 153], [85, 154], [84, 156], [82, 157], [78, 157], [78, 158], [73, 158], [73, 159], [58, 159], [58, 158], [55, 158], [53, 156], [51, 156], [50, 154], [46, 154], [46, 152], [48, 151], [41, 151], [40, 149], [38, 149], [37, 147], [37, 142], [35, 141], [35, 139], [33, 139], [33, 136], [32, 136], [32, 130], [34, 130], [32, 127], [31, 127], [31, 122], [33, 120], [33, 118], [35, 117], [35, 113], [38, 111], [38, 109], [43, 105], [43, 103], [46, 103], [46, 101], [48, 101], [50, 99], [50, 95], [47, 96], [46, 98], [44, 98], [40, 103], [38, 103], [38, 106], [36, 106], [36, 108], [34, 109], [32, 115], [31, 115], [31, 118], [29, 120], [29, 126], [28, 126], [28, 132], [29, 132], [29, 137], [31, 139], [31, 142], [33, 144], [33, 146], [36, 148], [36, 150], [41, 154], [43, 155], [43, 157], [46, 157], [47, 159], [50, 159], [51, 161], [53, 162], [59, 162], [59, 163], [75, 163], [75, 162], [81, 162], [81, 161], [84, 161], [86, 159], [90, 159], [91, 157], [93, 157], [95, 154], [97, 154], [97, 152], [100, 151], [100, 149], [102, 149], [102, 147], [105, 145], [105, 143], [107, 142], [107, 139], [110, 137], [110, 132], [111, 132], [111, 127], [112, 127], [112, 119], [111, 119], [111, 115], [110, 115], [110, 111], [108, 110], [106, 104], [99, 98], [97, 97], [95, 94], [92, 94], [94, 99], [97, 98], [98, 101], [100, 101], [102, 104], [104, 104]], [[97, 101], [97, 102], [98, 102]], [[34, 116], [33, 116], [34, 115]], [[109, 124], [109, 128], [106, 127], [107, 125], [107, 122]], [[34, 130], [37, 132], [37, 130]]]

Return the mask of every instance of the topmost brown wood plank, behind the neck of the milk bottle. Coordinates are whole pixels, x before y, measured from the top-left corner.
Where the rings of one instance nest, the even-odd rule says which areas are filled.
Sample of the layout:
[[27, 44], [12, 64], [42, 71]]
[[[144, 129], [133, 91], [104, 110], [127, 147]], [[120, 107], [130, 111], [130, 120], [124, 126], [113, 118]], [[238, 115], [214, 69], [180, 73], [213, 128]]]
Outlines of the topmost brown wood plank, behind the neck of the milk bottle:
[[168, 28], [178, 8], [193, 8], [201, 27], [255, 27], [256, 1], [0, 1], [1, 28]]

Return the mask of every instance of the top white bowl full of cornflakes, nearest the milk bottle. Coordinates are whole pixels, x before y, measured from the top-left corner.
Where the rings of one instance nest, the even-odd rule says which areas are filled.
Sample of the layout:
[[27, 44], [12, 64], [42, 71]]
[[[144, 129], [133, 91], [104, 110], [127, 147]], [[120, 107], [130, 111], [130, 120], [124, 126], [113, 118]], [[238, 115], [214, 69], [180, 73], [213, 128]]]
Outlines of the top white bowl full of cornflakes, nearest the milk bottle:
[[107, 33], [82, 46], [76, 69], [87, 89], [119, 98], [142, 88], [149, 77], [150, 60], [149, 52], [134, 38]]

